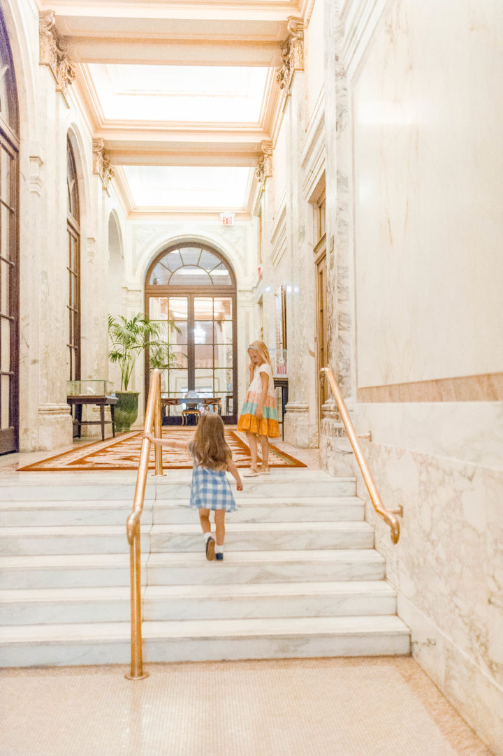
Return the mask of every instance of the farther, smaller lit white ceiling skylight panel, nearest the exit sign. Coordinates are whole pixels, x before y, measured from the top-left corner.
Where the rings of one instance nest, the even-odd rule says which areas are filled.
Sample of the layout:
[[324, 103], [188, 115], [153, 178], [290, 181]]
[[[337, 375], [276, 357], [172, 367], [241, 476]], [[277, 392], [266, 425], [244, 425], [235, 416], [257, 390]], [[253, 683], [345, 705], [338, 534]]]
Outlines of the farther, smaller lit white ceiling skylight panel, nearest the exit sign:
[[123, 166], [137, 208], [240, 210], [250, 168], [236, 166]]

